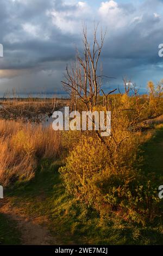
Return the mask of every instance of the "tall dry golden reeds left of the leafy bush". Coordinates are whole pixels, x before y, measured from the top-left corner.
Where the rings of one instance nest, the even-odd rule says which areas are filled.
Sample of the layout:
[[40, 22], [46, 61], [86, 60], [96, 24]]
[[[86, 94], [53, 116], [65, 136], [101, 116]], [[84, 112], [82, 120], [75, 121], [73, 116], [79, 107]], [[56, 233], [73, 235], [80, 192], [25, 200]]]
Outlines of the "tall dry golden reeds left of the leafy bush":
[[0, 120], [0, 183], [30, 180], [37, 162], [56, 159], [60, 150], [60, 132], [52, 127]]

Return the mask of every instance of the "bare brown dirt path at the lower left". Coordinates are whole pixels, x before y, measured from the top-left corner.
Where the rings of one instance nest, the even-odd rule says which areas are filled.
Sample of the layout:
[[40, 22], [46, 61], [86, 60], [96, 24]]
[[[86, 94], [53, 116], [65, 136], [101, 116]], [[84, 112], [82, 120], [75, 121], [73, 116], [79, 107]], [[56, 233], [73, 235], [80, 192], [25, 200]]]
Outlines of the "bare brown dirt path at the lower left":
[[22, 245], [56, 245], [58, 243], [49, 234], [46, 218], [30, 220], [29, 217], [20, 213], [20, 209], [11, 206], [10, 203], [0, 205], [0, 212], [10, 220], [17, 222], [17, 228], [22, 234]]

